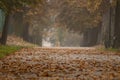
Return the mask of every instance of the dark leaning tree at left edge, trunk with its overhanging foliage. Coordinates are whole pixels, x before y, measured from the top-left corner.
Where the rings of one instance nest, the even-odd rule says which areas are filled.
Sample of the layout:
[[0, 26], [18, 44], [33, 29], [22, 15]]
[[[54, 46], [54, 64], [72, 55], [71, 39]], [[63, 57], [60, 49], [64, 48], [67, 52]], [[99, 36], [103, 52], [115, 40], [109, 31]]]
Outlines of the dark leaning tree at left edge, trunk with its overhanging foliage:
[[5, 45], [7, 41], [10, 15], [15, 11], [21, 11], [23, 7], [35, 6], [40, 2], [41, 0], [0, 0], [0, 8], [6, 13], [1, 44]]

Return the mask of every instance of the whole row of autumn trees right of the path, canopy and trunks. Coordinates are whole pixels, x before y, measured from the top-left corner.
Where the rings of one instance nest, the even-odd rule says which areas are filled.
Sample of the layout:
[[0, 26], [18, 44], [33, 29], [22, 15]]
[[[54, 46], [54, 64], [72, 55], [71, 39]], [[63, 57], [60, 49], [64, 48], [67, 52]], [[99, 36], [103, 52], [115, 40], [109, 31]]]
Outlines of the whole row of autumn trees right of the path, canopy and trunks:
[[59, 12], [56, 23], [82, 33], [83, 46], [120, 47], [120, 0], [52, 0], [51, 4]]

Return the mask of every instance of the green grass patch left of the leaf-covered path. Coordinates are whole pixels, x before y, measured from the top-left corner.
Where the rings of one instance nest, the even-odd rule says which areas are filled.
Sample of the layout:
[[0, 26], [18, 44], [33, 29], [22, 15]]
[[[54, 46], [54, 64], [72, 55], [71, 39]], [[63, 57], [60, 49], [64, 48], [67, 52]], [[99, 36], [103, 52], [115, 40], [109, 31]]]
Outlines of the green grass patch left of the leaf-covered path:
[[21, 46], [2, 46], [0, 45], [0, 58], [22, 49]]

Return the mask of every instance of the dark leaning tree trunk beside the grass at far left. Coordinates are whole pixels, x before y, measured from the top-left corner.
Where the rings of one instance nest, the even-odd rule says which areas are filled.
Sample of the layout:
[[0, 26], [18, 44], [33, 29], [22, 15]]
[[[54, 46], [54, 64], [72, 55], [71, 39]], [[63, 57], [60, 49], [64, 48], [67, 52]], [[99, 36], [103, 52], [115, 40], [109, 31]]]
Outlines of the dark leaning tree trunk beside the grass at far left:
[[7, 42], [9, 19], [10, 19], [10, 13], [5, 16], [5, 23], [3, 26], [2, 37], [1, 37], [1, 41], [0, 41], [2, 45], [6, 45], [6, 42]]

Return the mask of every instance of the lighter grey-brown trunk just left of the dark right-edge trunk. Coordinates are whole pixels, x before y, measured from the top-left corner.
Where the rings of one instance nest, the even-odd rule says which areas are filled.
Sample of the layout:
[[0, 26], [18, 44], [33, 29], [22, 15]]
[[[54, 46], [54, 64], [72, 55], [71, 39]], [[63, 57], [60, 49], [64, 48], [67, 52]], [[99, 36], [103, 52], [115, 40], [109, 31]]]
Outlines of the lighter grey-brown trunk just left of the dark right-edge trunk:
[[109, 48], [111, 44], [111, 8], [103, 15], [102, 35], [105, 48]]

